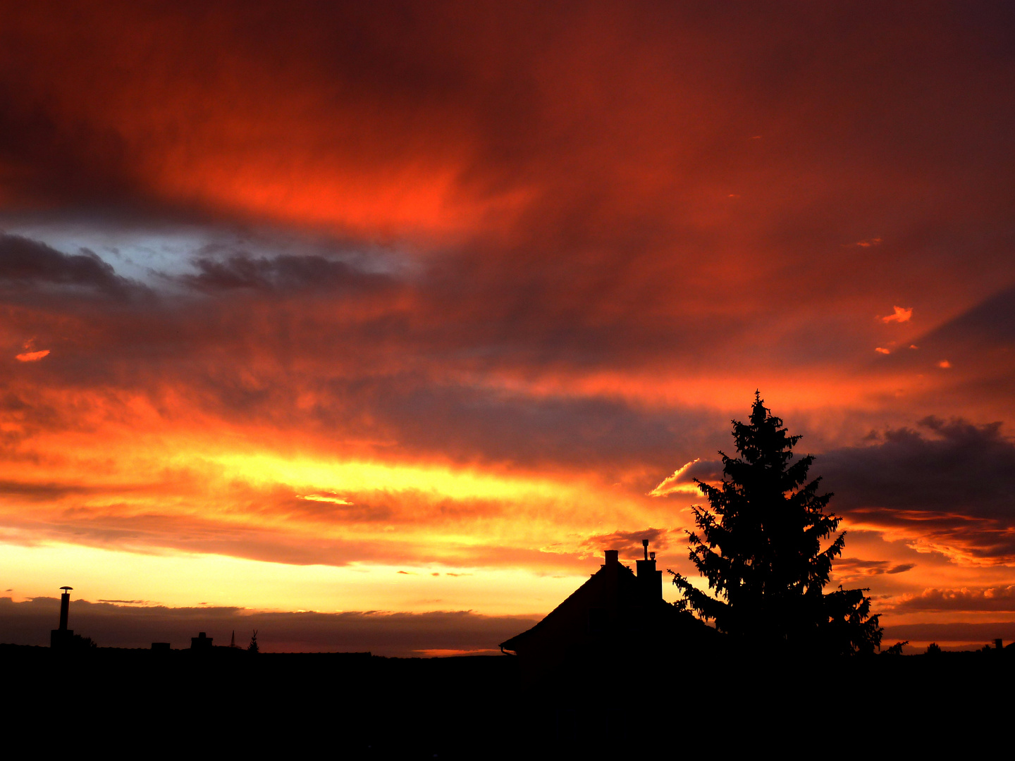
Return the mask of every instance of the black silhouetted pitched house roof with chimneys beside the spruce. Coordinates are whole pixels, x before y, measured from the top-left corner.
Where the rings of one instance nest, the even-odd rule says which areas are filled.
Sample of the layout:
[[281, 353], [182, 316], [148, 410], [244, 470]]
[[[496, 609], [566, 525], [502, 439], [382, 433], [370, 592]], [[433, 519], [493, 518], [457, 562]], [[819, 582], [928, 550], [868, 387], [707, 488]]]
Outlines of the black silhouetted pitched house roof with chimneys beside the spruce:
[[514, 651], [533, 676], [568, 661], [651, 658], [715, 635], [663, 600], [663, 572], [645, 544], [636, 574], [619, 561], [617, 550], [606, 550], [606, 562], [588, 581], [531, 629], [501, 642], [500, 649]]

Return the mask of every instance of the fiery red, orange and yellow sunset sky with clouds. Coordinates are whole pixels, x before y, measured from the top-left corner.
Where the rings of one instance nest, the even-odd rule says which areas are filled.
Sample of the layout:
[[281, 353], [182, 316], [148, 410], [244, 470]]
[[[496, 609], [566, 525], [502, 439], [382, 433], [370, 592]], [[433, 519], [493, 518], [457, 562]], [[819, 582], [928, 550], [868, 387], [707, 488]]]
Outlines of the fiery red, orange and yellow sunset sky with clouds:
[[1013, 92], [1006, 3], [5, 3], [0, 597], [693, 574], [757, 389], [886, 643], [1015, 636]]

